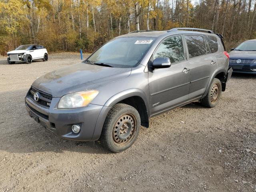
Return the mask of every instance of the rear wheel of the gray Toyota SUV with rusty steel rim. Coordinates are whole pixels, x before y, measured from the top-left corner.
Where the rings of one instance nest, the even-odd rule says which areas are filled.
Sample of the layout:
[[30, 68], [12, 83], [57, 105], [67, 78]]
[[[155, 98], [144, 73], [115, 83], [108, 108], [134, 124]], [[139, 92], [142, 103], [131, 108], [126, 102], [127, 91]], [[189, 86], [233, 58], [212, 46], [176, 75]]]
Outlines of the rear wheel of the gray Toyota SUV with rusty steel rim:
[[220, 100], [221, 90], [222, 87], [220, 80], [214, 78], [212, 84], [210, 85], [208, 94], [201, 100], [202, 105], [208, 108], [215, 107]]

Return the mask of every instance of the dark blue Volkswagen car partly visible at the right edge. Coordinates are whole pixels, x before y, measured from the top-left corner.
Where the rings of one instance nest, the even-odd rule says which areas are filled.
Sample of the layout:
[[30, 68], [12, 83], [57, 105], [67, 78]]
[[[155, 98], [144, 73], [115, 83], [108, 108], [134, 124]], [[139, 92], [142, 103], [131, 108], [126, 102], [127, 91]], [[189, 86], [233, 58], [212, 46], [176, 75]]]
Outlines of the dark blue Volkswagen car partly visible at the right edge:
[[256, 39], [242, 42], [229, 53], [233, 72], [256, 74]]

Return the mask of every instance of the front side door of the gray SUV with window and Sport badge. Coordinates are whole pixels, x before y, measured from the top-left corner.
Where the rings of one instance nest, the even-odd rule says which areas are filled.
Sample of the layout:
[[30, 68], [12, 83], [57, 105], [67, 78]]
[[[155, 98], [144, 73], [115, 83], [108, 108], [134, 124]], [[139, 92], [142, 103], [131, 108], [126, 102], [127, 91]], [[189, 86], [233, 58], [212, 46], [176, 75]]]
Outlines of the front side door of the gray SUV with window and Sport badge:
[[151, 114], [164, 112], [173, 106], [188, 100], [190, 87], [190, 64], [185, 59], [183, 37], [171, 36], [160, 43], [153, 54], [168, 57], [170, 68], [149, 69], [148, 82], [150, 91]]

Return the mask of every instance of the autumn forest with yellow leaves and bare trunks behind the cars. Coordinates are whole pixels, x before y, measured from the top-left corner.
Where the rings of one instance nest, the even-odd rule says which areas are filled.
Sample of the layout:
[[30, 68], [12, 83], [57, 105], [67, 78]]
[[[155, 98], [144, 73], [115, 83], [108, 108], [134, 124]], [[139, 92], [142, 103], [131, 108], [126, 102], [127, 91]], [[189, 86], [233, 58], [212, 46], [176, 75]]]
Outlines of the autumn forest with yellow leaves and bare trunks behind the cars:
[[0, 54], [20, 44], [92, 52], [133, 30], [214, 30], [226, 46], [256, 38], [256, 0], [0, 0]]

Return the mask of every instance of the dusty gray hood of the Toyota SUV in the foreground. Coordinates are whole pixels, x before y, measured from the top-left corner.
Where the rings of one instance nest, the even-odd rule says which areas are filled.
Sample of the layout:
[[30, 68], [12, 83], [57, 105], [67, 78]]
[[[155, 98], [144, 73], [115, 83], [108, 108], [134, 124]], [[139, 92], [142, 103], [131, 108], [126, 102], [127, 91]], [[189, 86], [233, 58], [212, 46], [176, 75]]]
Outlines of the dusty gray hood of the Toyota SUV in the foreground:
[[128, 77], [131, 70], [132, 68], [105, 67], [81, 62], [45, 74], [35, 80], [32, 86], [53, 97], [62, 97]]

